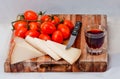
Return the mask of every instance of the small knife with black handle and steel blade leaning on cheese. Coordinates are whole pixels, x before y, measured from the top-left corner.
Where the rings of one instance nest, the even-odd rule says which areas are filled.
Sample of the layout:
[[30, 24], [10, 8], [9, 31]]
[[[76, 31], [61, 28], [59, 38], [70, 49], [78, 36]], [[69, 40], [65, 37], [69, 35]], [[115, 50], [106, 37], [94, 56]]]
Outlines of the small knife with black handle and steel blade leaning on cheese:
[[74, 29], [72, 31], [72, 34], [70, 36], [69, 42], [68, 42], [68, 44], [66, 46], [66, 49], [70, 48], [74, 44], [75, 39], [76, 39], [76, 37], [78, 35], [79, 29], [81, 28], [81, 26], [82, 26], [82, 22], [77, 21], [76, 24], [75, 24], [75, 27], [74, 27]]

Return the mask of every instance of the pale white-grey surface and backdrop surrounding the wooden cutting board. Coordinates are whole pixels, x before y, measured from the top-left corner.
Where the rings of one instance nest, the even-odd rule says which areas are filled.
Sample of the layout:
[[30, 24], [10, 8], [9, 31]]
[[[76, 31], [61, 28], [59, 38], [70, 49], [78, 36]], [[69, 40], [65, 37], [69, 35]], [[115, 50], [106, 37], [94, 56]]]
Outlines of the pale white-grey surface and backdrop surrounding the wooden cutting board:
[[[11, 21], [27, 9], [47, 13], [107, 14], [109, 25], [109, 68], [104, 73], [4, 73], [11, 36]], [[119, 0], [0, 0], [0, 79], [119, 79]]]

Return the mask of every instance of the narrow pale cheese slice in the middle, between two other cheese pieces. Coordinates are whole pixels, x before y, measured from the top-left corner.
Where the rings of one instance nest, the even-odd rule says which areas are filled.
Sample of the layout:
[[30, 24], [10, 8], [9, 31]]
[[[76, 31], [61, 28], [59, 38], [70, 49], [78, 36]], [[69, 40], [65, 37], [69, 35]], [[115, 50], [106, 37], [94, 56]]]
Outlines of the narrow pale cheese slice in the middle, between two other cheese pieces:
[[53, 50], [51, 50], [47, 45], [46, 41], [38, 39], [38, 38], [32, 38], [30, 36], [27, 36], [25, 40], [30, 43], [32, 46], [37, 48], [39, 51], [43, 51], [46, 54], [48, 54], [50, 57], [52, 57], [54, 60], [59, 60], [61, 59], [60, 56], [58, 56]]

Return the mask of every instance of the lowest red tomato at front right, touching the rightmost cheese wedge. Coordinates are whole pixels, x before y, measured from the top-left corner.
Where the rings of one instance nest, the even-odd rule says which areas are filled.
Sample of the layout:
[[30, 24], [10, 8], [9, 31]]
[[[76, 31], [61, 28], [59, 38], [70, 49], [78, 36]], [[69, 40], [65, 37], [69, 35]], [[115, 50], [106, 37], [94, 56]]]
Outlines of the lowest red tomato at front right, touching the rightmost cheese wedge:
[[63, 35], [62, 32], [59, 30], [56, 30], [53, 34], [52, 34], [52, 40], [58, 43], [62, 43], [63, 42]]

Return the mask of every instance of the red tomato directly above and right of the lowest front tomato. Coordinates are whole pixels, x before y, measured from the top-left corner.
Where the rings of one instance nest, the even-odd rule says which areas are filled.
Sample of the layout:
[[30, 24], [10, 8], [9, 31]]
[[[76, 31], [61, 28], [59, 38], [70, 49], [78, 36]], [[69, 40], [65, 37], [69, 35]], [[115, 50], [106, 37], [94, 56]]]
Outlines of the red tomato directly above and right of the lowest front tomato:
[[70, 29], [65, 24], [59, 24], [58, 30], [60, 30], [63, 34], [63, 38], [67, 39], [70, 36]]

